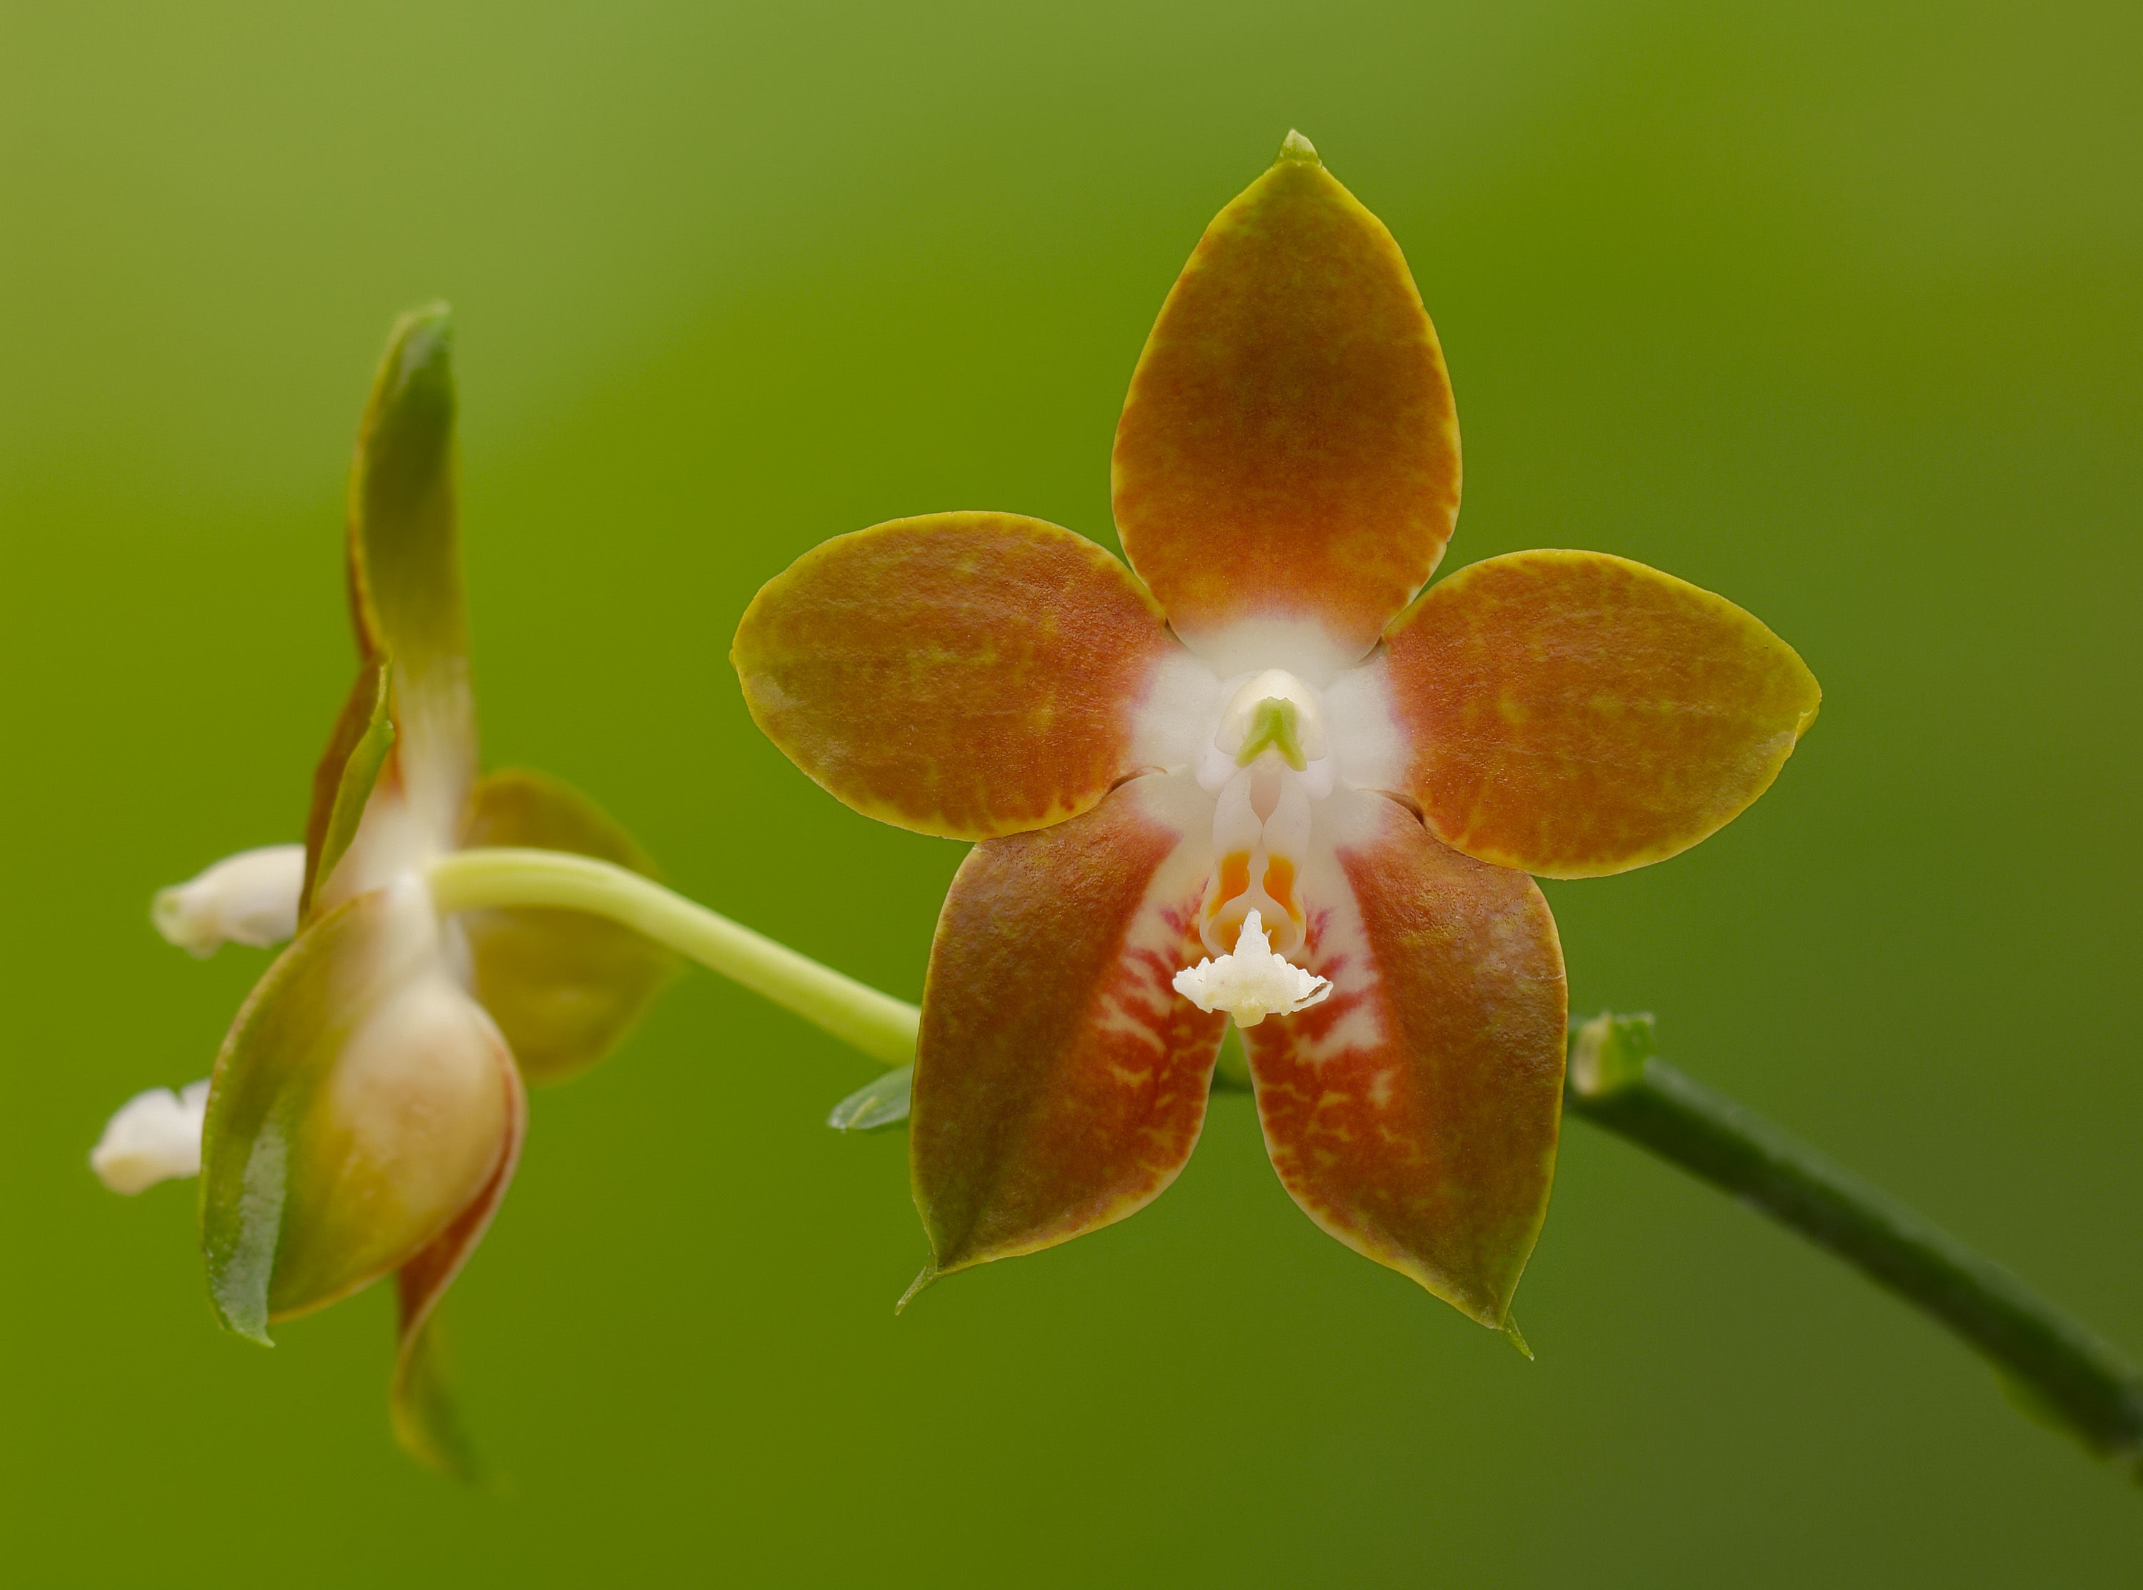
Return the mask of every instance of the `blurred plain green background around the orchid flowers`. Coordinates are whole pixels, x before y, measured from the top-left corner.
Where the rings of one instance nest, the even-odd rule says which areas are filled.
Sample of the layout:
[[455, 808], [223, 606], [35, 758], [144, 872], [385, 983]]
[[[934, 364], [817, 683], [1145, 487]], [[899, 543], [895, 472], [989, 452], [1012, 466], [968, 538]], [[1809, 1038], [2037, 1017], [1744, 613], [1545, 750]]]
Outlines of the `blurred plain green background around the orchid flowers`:
[[296, 838], [386, 328], [459, 309], [486, 754], [904, 996], [960, 846], [726, 666], [821, 538], [1110, 540], [1132, 362], [1301, 126], [1406, 246], [1447, 568], [1597, 546], [1826, 688], [1691, 855], [1549, 885], [1573, 1007], [2143, 1350], [2143, 11], [1245, 0], [0, 15], [0, 1577], [24, 1586], [2132, 1586], [2143, 1496], [1920, 1318], [1571, 1123], [1519, 1361], [1217, 1101], [1138, 1219], [924, 1258], [870, 1065], [709, 975], [536, 1099], [454, 1294], [508, 1500], [409, 1466], [379, 1290], [216, 1335], [191, 1185], [84, 1153], [261, 951], [156, 885]]

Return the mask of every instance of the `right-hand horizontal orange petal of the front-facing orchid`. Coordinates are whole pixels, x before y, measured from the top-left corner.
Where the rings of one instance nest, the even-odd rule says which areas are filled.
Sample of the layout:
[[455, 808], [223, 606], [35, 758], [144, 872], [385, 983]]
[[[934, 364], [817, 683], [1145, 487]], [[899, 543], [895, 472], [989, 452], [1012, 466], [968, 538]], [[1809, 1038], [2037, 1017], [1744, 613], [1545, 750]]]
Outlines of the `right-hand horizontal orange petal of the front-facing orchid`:
[[1429, 831], [1549, 879], [1627, 872], [1725, 827], [1824, 696], [1723, 596], [1605, 553], [1462, 568], [1391, 626], [1380, 666]]

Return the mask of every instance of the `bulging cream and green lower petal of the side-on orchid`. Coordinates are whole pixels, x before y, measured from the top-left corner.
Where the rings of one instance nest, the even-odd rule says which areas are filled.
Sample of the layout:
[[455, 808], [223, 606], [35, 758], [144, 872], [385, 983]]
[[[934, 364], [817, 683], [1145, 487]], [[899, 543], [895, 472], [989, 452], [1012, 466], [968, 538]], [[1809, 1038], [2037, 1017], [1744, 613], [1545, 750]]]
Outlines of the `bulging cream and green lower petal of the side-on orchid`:
[[210, 1080], [201, 1251], [223, 1322], [266, 1341], [424, 1249], [497, 1174], [519, 1086], [416, 879], [300, 932]]

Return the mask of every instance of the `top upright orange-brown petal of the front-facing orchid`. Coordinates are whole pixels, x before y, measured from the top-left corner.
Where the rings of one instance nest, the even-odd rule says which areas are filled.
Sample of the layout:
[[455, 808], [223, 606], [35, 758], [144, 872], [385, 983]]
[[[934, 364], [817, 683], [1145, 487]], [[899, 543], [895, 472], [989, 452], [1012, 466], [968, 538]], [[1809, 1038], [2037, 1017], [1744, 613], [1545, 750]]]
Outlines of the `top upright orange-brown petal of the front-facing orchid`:
[[1399, 244], [1301, 135], [1168, 294], [1114, 493], [1132, 568], [1200, 649], [1241, 619], [1309, 619], [1359, 658], [1436, 570], [1459, 508], [1436, 328]]

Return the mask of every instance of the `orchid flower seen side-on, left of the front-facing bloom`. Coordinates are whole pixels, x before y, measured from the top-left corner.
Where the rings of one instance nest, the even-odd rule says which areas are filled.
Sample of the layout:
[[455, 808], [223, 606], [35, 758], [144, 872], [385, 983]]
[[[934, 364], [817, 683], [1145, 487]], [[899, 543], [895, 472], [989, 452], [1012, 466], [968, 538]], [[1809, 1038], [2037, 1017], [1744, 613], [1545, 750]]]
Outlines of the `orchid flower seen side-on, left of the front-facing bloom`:
[[441, 919], [431, 870], [467, 846], [649, 872], [568, 786], [478, 776], [448, 351], [444, 309], [403, 317], [358, 433], [349, 602], [362, 662], [313, 776], [304, 844], [246, 851], [156, 900], [159, 928], [195, 954], [296, 939], [238, 1011], [210, 1082], [133, 1099], [92, 1164], [118, 1191], [199, 1170], [210, 1296], [257, 1341], [394, 1275], [396, 1436], [467, 1470], [431, 1320], [512, 1181], [523, 1082], [602, 1059], [673, 958], [576, 911]]

